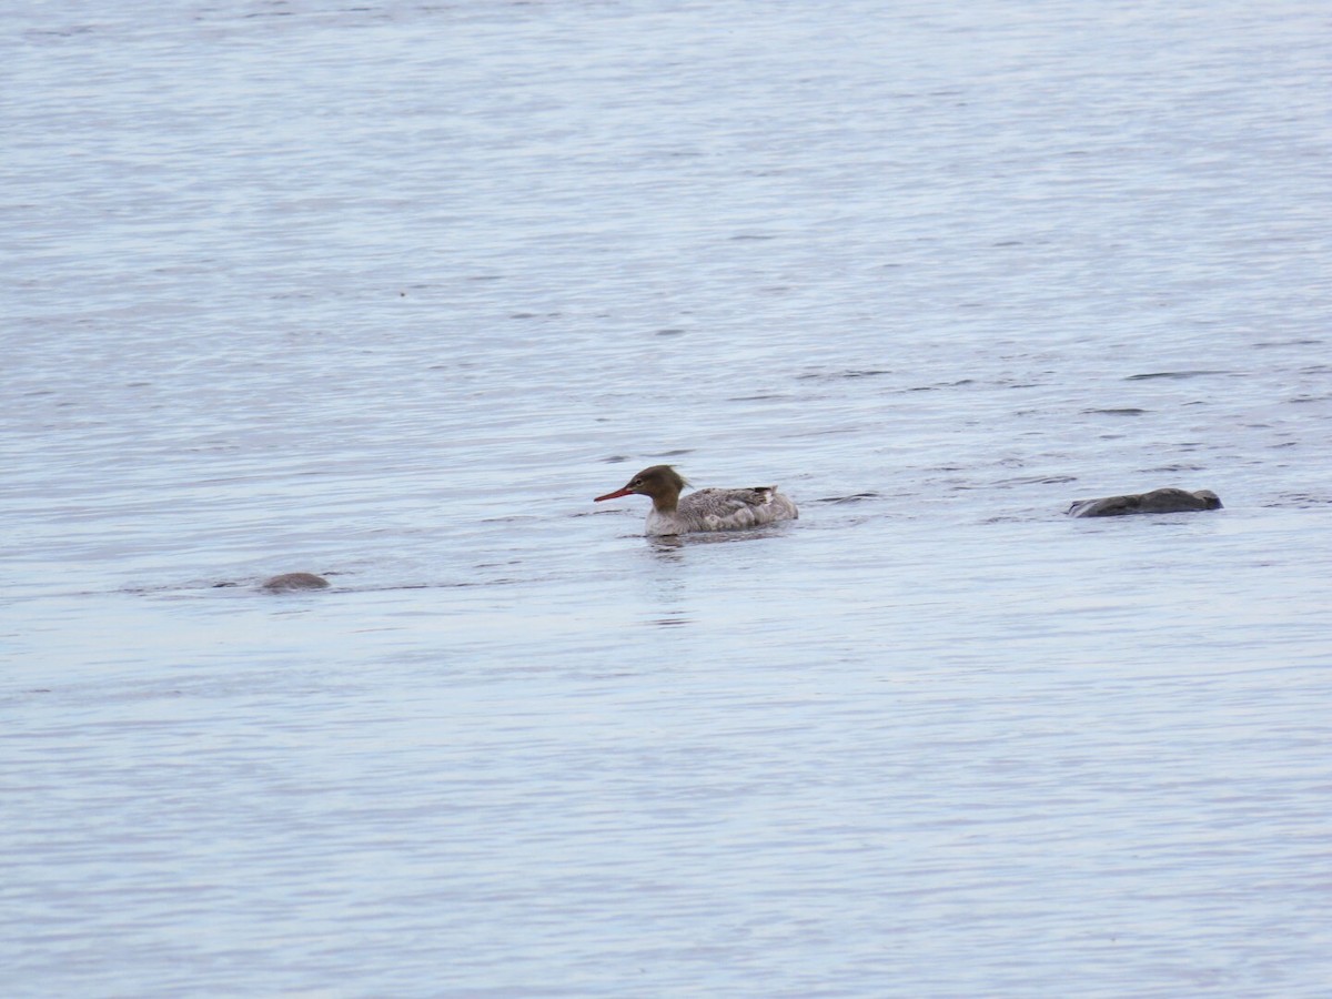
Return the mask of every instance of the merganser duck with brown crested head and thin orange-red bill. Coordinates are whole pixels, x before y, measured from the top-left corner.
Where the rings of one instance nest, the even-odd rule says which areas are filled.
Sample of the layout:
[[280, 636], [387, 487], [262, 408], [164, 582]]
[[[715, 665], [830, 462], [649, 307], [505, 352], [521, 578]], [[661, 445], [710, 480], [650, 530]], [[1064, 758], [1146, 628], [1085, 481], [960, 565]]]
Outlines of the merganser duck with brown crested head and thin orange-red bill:
[[646, 530], [650, 537], [757, 527], [774, 521], [794, 521], [801, 515], [795, 503], [778, 493], [777, 486], [699, 489], [682, 500], [679, 492], [687, 485], [670, 465], [653, 465], [629, 480], [623, 489], [598, 496], [593, 502], [634, 493], [650, 496], [653, 509], [647, 511]]

